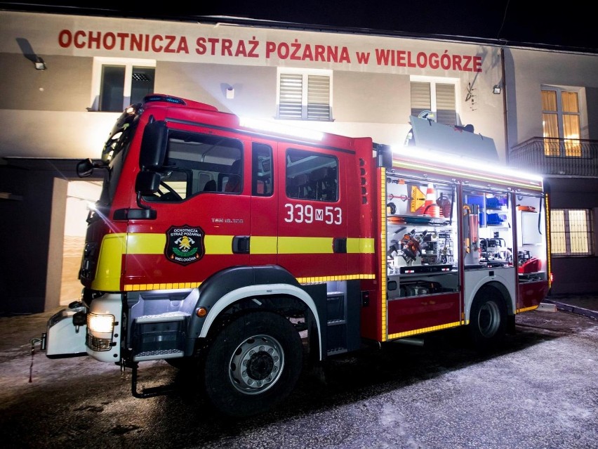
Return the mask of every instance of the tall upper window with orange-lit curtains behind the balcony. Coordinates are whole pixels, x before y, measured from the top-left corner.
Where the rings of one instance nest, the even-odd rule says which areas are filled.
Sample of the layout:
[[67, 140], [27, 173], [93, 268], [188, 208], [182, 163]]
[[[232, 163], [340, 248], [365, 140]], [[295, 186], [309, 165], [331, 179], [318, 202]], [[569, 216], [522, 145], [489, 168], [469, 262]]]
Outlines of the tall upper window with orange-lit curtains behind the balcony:
[[558, 87], [543, 87], [542, 127], [546, 156], [580, 157], [578, 93]]

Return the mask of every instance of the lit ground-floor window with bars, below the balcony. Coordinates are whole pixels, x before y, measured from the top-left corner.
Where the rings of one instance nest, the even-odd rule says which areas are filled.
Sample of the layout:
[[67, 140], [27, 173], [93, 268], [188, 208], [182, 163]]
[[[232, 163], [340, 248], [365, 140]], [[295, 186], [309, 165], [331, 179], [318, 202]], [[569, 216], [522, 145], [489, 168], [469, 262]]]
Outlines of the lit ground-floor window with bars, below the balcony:
[[594, 229], [590, 209], [552, 209], [550, 241], [553, 256], [591, 256]]

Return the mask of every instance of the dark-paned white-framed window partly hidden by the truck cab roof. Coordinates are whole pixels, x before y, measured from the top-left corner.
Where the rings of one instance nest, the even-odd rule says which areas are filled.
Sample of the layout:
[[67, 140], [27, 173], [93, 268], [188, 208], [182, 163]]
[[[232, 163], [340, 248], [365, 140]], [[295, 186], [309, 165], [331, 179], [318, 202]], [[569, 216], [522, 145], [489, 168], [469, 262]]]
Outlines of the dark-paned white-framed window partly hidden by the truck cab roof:
[[93, 58], [91, 110], [122, 112], [154, 93], [155, 60]]

